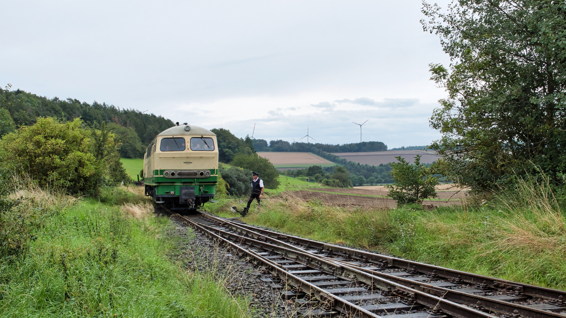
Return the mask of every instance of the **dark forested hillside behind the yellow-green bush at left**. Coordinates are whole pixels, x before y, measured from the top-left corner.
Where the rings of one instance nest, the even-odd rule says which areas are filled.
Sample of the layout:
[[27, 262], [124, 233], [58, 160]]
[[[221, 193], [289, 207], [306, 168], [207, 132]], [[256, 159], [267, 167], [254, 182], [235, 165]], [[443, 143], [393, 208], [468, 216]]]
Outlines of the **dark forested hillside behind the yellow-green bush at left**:
[[15, 128], [30, 126], [40, 117], [53, 117], [61, 122], [81, 118], [88, 126], [98, 127], [102, 122], [122, 143], [118, 150], [125, 158], [140, 158], [145, 147], [160, 132], [173, 126], [173, 122], [139, 110], [119, 109], [105, 103], [81, 102], [73, 98], [60, 100], [24, 92], [0, 88], [0, 136]]

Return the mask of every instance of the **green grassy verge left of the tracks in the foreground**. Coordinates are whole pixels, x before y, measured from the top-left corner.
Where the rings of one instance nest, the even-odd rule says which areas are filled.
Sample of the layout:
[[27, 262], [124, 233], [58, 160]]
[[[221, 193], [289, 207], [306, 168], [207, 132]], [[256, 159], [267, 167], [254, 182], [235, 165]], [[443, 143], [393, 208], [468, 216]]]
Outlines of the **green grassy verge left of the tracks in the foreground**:
[[0, 317], [248, 316], [244, 299], [169, 259], [169, 220], [143, 195], [125, 205], [38, 189], [19, 195], [33, 199], [12, 212], [22, 221], [12, 226], [32, 239], [2, 256]]

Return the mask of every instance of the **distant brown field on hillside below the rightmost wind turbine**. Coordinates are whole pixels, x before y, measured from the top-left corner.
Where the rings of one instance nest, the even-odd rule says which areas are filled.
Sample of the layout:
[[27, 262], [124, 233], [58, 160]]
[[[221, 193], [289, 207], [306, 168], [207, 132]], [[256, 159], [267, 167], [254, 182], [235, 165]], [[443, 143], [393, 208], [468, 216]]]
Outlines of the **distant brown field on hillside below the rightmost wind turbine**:
[[333, 153], [340, 158], [349, 161], [359, 162], [361, 165], [388, 164], [389, 162], [397, 162], [396, 156], [405, 158], [406, 161], [413, 163], [414, 157], [420, 154], [422, 164], [432, 164], [438, 160], [440, 156], [430, 151], [423, 150], [393, 150], [393, 151], [374, 151], [374, 152], [336, 152]]

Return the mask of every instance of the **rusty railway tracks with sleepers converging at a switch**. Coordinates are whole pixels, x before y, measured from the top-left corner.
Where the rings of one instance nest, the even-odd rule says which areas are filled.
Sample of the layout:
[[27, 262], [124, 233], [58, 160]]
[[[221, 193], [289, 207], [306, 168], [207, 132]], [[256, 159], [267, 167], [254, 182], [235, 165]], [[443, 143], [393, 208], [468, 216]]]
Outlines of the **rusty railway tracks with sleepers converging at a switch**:
[[564, 291], [325, 244], [203, 212], [177, 216], [263, 269], [261, 280], [282, 298], [297, 299], [306, 317], [566, 318]]

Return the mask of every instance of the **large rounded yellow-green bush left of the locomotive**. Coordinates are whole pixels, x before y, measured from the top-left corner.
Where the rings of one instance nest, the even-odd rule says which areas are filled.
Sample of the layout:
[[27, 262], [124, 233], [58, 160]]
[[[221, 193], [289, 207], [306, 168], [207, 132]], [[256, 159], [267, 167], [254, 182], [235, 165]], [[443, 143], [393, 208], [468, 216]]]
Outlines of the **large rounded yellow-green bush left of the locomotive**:
[[128, 183], [117, 148], [104, 124], [100, 130], [82, 127], [80, 119], [60, 123], [38, 118], [4, 135], [0, 156], [5, 169], [25, 173], [41, 187], [59, 188], [73, 194], [97, 194], [104, 185]]

